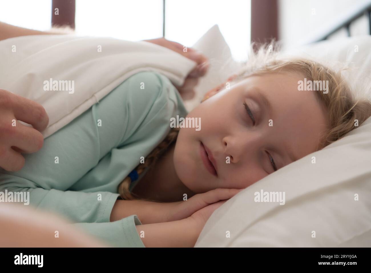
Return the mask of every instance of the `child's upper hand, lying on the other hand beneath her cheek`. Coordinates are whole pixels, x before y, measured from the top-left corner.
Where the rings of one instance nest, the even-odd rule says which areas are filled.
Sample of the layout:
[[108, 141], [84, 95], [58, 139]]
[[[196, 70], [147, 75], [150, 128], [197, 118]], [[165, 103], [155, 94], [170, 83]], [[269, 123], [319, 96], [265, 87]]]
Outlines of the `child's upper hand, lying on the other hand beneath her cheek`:
[[[166, 221], [170, 222], [188, 218], [191, 215], [194, 215], [196, 212], [199, 212], [201, 209], [210, 207], [211, 204], [214, 204], [220, 200], [226, 201], [240, 191], [242, 191], [242, 189], [219, 188], [204, 192], [203, 194], [196, 194], [186, 201], [167, 203], [165, 204], [168, 210]], [[208, 208], [205, 211], [209, 212], [209, 210], [212, 208], [214, 207]], [[194, 217], [197, 217], [197, 215], [200, 214], [203, 215], [204, 212], [199, 212], [199, 214], [196, 214]]]

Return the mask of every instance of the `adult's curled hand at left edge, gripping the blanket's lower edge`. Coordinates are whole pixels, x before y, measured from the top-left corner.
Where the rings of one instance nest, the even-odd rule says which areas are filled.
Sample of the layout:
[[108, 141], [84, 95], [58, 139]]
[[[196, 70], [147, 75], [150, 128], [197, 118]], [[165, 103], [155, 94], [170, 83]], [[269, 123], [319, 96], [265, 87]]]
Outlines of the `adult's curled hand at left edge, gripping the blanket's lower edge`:
[[9, 172], [22, 169], [24, 157], [21, 153], [41, 149], [44, 138], [39, 131], [48, 123], [49, 117], [40, 104], [0, 89], [0, 167]]

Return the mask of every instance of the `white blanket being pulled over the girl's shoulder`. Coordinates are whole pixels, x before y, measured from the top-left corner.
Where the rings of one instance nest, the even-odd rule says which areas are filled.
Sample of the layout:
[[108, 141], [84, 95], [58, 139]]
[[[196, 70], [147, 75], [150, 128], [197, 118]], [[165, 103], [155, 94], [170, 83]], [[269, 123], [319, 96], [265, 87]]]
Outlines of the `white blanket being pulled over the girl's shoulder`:
[[0, 41], [0, 63], [0, 88], [45, 108], [49, 125], [44, 137], [135, 73], [157, 71], [174, 85], [183, 85], [196, 66], [190, 59], [152, 43], [72, 35], [31, 35]]

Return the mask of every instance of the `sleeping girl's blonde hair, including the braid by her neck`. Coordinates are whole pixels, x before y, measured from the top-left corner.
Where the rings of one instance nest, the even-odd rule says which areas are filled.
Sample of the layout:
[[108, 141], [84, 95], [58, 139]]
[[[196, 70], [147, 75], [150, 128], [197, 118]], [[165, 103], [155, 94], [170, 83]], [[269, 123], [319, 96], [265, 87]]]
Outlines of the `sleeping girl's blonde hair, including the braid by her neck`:
[[[252, 49], [255, 44], [252, 45]], [[328, 81], [328, 93], [316, 92], [317, 99], [326, 109], [329, 129], [324, 132], [318, 149], [335, 142], [345, 134], [357, 128], [354, 124], [362, 124], [371, 116], [371, 102], [366, 98], [355, 100], [351, 88], [341, 75], [341, 70], [334, 72], [319, 62], [301, 59], [279, 58], [278, 44], [264, 44], [257, 51], [251, 51], [249, 59], [242, 69], [235, 74], [231, 82], [238, 82], [254, 75], [267, 73], [303, 74], [311, 81]], [[135, 170], [140, 174], [145, 168], [154, 165], [158, 157], [178, 136], [178, 128], [174, 128], [165, 139], [146, 157], [145, 163], [139, 164]], [[118, 187], [118, 192], [124, 199], [138, 199], [129, 192], [131, 179], [126, 177]]]

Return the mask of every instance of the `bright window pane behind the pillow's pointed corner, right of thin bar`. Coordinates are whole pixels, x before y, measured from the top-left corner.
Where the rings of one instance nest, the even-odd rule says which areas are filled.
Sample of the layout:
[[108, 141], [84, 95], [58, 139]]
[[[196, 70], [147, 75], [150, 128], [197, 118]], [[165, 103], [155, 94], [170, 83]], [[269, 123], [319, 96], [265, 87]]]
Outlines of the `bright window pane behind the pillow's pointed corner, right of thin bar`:
[[250, 45], [250, 0], [166, 0], [165, 38], [192, 46], [217, 24], [234, 59], [247, 57]]

